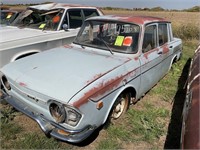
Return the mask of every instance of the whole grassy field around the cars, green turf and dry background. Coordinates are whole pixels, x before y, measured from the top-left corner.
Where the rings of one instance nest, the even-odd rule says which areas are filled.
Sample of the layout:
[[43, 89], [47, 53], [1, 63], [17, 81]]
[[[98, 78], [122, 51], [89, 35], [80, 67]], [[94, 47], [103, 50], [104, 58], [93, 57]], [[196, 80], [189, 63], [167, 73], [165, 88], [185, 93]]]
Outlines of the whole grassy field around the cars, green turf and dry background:
[[39, 126], [12, 107], [0, 104], [1, 149], [177, 149], [190, 59], [199, 44], [200, 13], [112, 11], [105, 14], [167, 18], [174, 35], [183, 39], [183, 56], [169, 73], [122, 118], [74, 145], [47, 138]]

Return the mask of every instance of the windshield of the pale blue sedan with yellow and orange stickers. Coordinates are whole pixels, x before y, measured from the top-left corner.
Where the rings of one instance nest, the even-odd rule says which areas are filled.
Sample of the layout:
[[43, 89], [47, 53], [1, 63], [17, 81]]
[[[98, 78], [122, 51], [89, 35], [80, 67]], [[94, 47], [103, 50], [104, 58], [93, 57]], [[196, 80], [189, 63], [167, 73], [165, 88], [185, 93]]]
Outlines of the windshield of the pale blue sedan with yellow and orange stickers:
[[86, 21], [74, 43], [109, 51], [136, 53], [140, 27], [111, 21]]

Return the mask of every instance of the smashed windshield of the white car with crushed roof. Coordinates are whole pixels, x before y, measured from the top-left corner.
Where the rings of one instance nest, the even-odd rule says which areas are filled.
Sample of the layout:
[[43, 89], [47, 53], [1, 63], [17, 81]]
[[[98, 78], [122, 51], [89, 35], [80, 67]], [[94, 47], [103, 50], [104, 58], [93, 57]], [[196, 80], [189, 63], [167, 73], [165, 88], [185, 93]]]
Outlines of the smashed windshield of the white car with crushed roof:
[[40, 30], [58, 30], [59, 23], [61, 21], [63, 9], [54, 10], [26, 10], [19, 15], [16, 21], [13, 22], [13, 26], [22, 28], [33, 28]]

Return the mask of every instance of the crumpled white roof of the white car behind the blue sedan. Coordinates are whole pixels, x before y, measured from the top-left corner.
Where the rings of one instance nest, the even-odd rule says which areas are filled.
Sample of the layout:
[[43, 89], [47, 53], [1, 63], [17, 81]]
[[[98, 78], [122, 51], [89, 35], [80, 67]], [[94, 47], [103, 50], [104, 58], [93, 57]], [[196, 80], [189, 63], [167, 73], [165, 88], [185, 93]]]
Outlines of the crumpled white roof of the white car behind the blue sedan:
[[78, 5], [78, 4], [49, 3], [49, 4], [29, 6], [29, 8], [40, 9], [40, 10], [51, 10], [51, 9], [58, 9], [58, 8], [68, 9], [68, 8], [96, 8], [96, 7], [84, 6], [84, 5]]

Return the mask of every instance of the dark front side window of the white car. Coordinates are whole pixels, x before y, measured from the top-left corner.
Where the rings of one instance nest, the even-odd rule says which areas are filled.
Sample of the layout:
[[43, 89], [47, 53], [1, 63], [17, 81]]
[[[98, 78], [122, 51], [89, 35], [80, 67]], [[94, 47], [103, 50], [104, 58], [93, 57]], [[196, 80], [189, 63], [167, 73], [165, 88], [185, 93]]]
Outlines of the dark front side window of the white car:
[[73, 29], [81, 27], [83, 22], [80, 9], [69, 10], [68, 15], [69, 15], [69, 28]]

